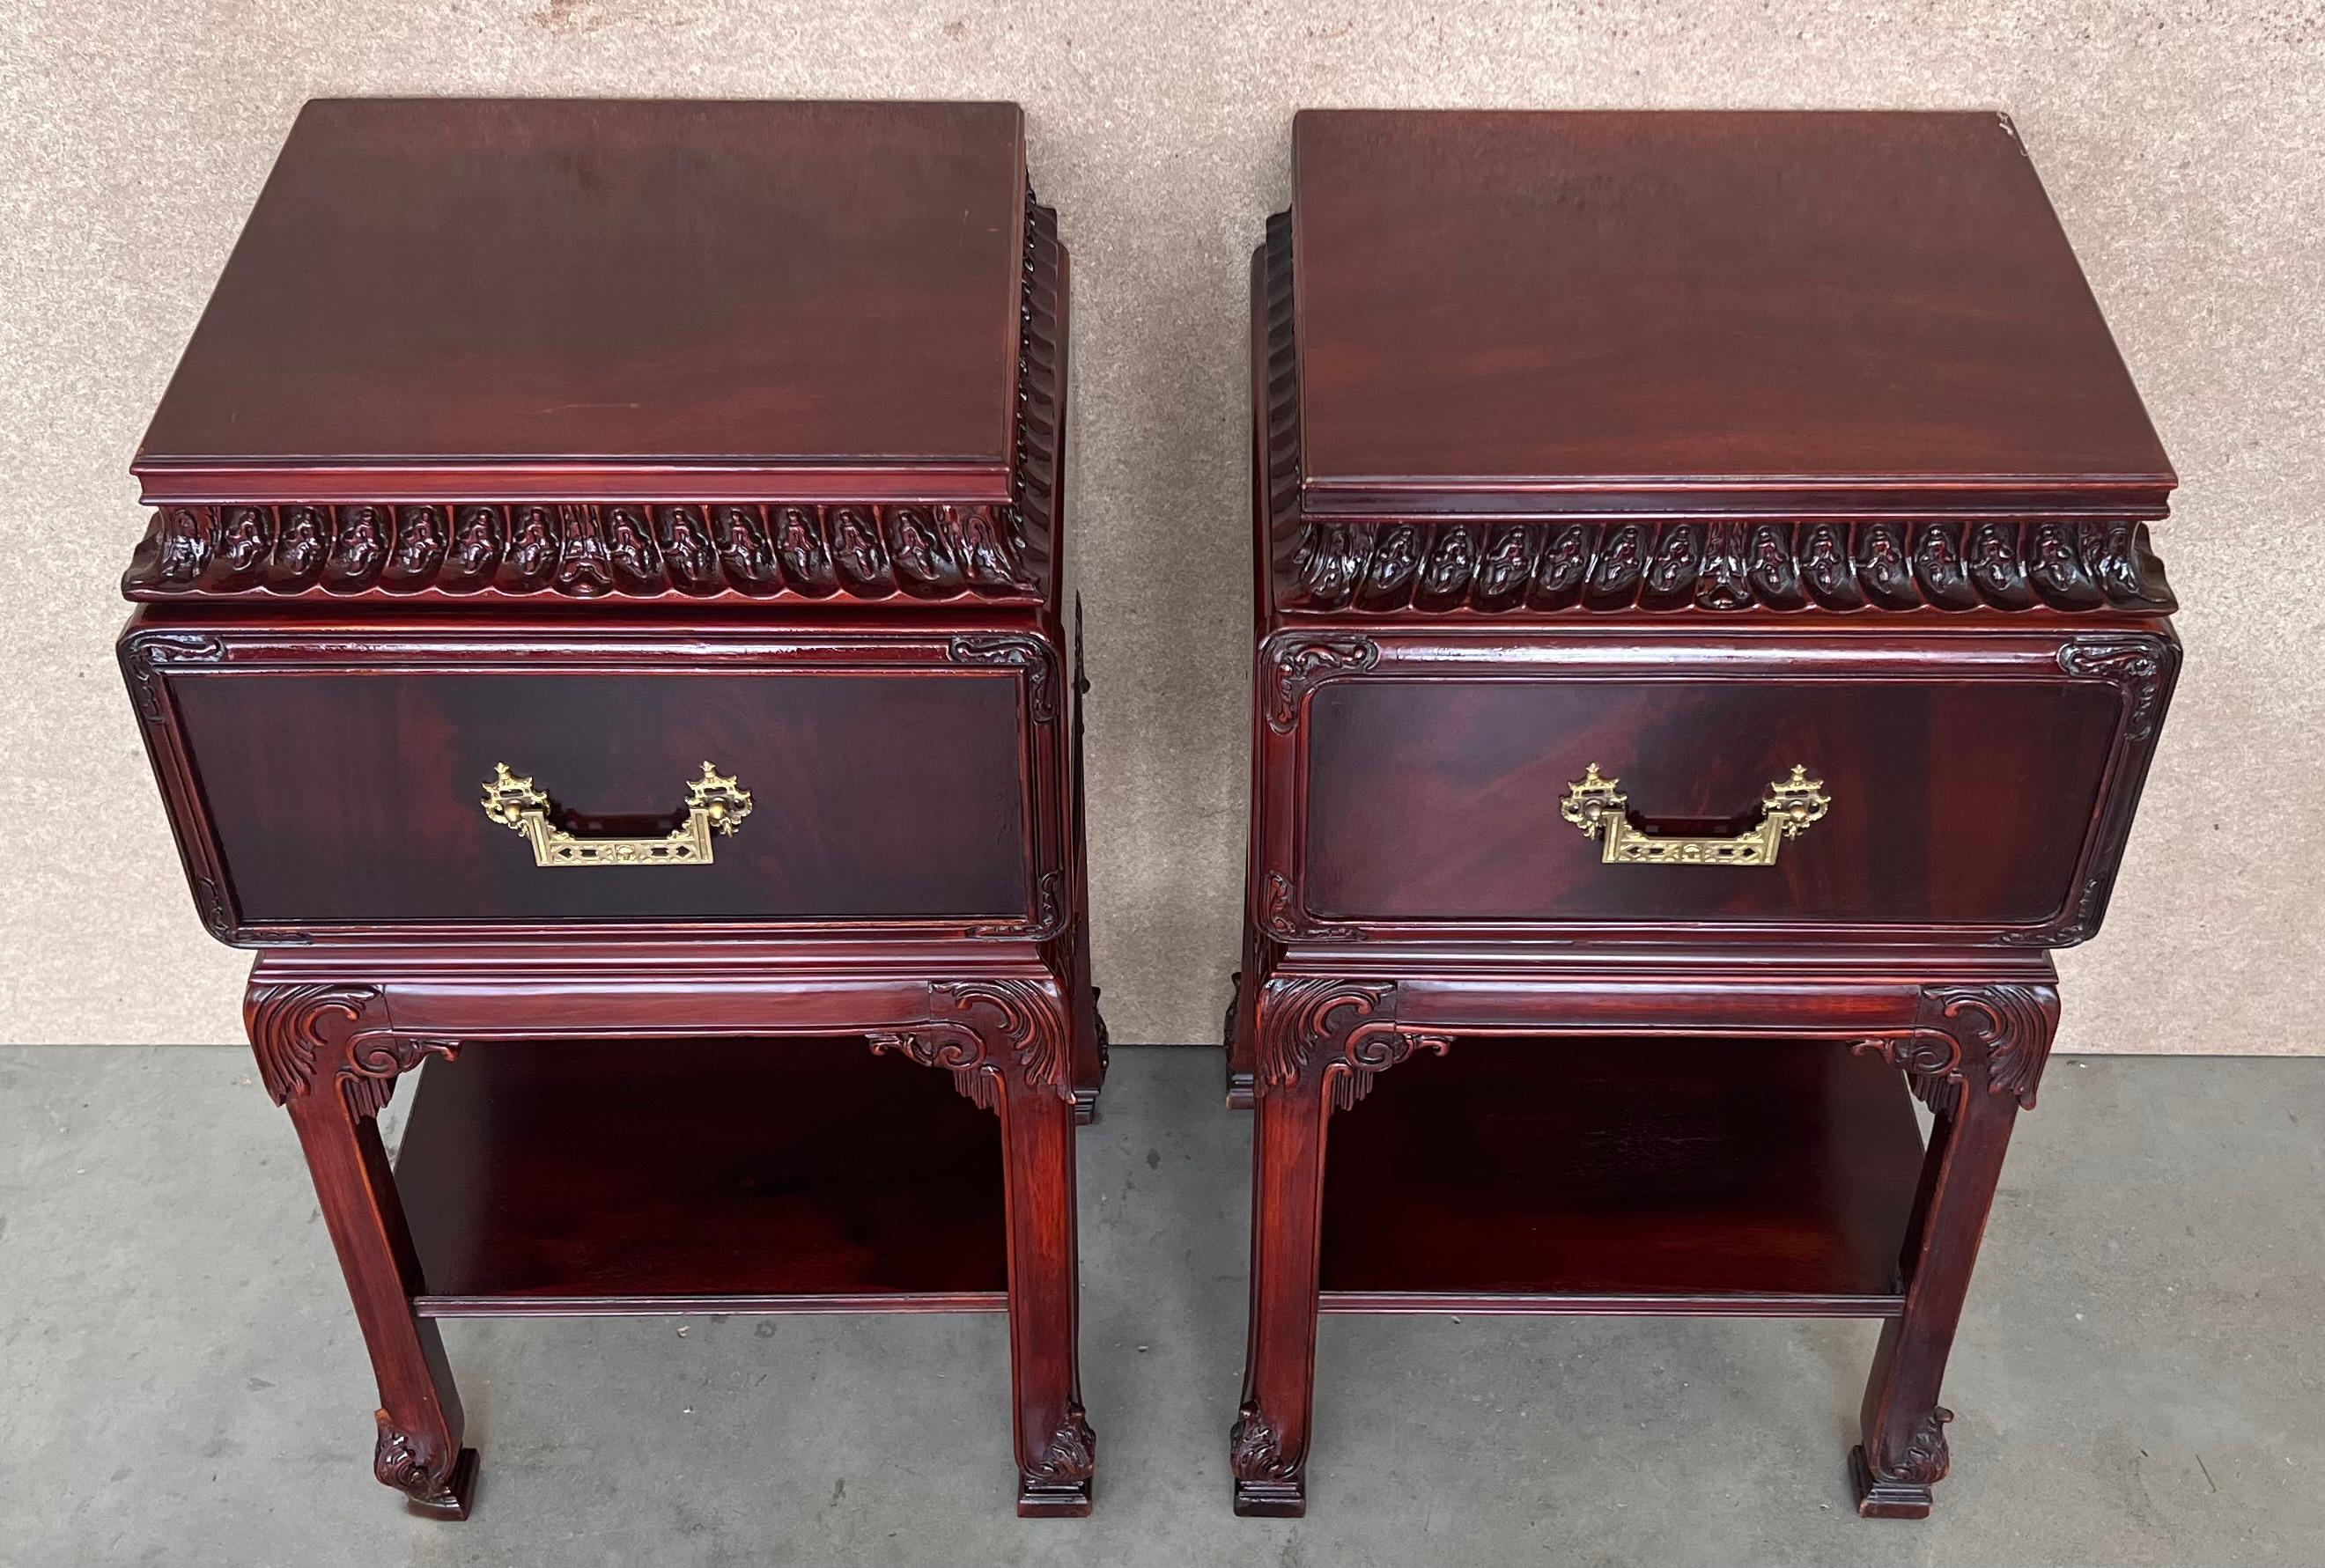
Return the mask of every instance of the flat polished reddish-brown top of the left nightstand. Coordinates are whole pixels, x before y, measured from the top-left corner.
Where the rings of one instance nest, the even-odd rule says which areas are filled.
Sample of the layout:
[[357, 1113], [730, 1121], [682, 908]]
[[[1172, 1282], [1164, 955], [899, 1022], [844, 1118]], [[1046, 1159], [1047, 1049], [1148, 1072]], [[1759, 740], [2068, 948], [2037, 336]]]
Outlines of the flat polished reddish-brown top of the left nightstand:
[[512, 462], [711, 465], [811, 499], [935, 467], [1007, 499], [1023, 221], [1016, 105], [312, 102], [137, 472], [493, 499]]

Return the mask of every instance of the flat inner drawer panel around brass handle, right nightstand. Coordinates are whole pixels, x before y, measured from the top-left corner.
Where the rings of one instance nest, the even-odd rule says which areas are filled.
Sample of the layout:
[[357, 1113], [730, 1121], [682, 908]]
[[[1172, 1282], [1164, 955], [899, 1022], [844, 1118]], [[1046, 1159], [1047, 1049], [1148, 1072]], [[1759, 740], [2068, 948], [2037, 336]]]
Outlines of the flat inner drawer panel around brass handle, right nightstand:
[[[2032, 927], [2074, 897], [2118, 718], [2111, 690], [2065, 676], [1335, 681], [1309, 713], [1307, 906]], [[1993, 739], [1969, 748], [1969, 734]], [[1834, 804], [1772, 866], [1609, 866], [1558, 815], [1588, 764], [1658, 834], [1758, 825], [1793, 764]]]

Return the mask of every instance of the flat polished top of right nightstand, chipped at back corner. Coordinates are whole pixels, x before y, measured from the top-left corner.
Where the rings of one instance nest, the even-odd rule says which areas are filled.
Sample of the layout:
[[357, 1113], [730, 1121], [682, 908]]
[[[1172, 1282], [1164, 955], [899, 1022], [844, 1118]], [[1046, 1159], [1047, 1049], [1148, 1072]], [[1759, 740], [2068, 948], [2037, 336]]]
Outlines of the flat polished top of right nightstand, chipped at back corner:
[[1309, 109], [1293, 170], [1311, 502], [2172, 485], [1997, 114]]

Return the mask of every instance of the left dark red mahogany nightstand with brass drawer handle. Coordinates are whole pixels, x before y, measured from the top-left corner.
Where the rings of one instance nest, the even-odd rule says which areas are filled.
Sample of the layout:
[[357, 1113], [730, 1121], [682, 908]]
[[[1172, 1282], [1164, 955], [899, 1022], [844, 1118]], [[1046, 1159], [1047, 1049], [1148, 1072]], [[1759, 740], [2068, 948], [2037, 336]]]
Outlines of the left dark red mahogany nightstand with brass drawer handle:
[[300, 114], [121, 667], [416, 1510], [442, 1317], [990, 1310], [1088, 1512], [1065, 304], [1014, 105]]

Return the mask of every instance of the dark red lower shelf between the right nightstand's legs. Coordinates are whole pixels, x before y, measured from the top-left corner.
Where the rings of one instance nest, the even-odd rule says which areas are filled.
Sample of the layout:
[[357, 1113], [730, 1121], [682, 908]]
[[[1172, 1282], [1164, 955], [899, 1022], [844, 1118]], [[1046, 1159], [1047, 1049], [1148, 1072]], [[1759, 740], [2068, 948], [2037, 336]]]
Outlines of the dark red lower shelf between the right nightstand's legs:
[[1462, 1038], [1332, 1117], [1321, 1308], [1893, 1317], [1920, 1164], [1834, 1041]]

